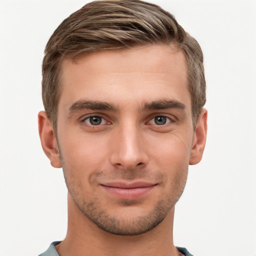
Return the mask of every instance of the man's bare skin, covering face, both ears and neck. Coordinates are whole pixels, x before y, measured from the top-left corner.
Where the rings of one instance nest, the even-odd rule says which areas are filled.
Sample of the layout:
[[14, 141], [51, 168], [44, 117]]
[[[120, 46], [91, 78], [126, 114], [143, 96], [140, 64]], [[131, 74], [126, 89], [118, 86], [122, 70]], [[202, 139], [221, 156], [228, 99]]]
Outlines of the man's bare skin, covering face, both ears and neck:
[[68, 188], [59, 255], [178, 255], [174, 205], [202, 157], [207, 119], [203, 109], [193, 129], [183, 52], [100, 51], [65, 59], [62, 71], [57, 138], [38, 114], [43, 150]]

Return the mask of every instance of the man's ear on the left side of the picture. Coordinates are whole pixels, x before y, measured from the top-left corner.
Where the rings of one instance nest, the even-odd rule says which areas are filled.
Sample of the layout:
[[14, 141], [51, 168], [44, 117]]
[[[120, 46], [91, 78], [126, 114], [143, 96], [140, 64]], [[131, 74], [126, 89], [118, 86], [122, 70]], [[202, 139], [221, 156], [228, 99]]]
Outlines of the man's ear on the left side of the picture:
[[50, 164], [55, 168], [61, 167], [57, 140], [45, 111], [38, 113], [38, 130], [44, 153], [50, 159]]

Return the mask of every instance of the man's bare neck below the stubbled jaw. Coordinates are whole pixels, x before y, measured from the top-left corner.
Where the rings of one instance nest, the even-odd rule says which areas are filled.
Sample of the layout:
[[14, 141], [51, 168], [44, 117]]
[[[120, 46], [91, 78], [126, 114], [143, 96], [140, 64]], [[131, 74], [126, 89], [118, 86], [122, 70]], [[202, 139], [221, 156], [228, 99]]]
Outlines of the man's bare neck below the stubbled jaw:
[[65, 239], [55, 246], [66, 255], [178, 255], [173, 245], [174, 208], [152, 230], [139, 235], [115, 235], [106, 232], [85, 217], [68, 194], [68, 226]]

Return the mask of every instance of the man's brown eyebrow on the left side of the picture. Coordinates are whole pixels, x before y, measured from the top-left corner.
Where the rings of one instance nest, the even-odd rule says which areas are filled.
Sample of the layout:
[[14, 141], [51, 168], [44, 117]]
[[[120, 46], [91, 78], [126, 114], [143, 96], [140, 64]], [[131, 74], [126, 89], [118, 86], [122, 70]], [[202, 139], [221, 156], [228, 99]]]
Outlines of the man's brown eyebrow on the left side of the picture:
[[117, 111], [119, 108], [111, 103], [98, 100], [78, 100], [68, 108], [68, 114], [83, 109]]

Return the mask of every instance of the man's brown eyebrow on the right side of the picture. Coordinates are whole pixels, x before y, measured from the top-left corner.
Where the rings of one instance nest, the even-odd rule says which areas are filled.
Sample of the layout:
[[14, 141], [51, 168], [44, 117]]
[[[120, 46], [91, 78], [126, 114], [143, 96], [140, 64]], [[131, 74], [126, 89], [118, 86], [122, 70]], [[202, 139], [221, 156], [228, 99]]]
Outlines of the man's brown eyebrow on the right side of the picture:
[[160, 99], [152, 102], [145, 102], [142, 105], [142, 110], [151, 110], [151, 109], [167, 109], [175, 108], [180, 110], [185, 110], [186, 106], [174, 99]]

